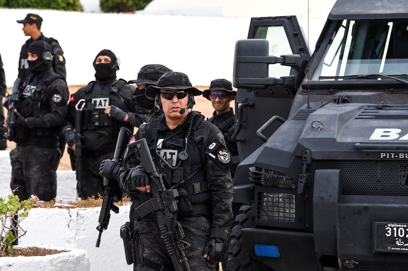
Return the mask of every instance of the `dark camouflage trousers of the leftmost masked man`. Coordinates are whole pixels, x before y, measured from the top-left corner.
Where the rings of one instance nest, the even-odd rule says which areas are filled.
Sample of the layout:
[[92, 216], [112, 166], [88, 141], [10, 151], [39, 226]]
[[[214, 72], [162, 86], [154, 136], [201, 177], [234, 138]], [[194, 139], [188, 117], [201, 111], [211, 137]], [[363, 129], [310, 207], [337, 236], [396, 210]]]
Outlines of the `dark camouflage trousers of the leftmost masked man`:
[[41, 201], [50, 201], [57, 195], [58, 161], [61, 152], [58, 148], [16, 146], [10, 152], [11, 190], [18, 189], [15, 194], [21, 200], [30, 198], [32, 194]]

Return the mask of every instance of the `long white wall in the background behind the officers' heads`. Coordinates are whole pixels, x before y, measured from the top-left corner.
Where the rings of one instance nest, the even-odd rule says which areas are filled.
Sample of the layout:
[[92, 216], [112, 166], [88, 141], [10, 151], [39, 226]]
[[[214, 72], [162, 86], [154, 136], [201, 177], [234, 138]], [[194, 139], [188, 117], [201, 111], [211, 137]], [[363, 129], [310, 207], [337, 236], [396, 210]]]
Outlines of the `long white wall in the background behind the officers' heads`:
[[[289, 8], [287, 11], [289, 15], [294, 14]], [[250, 21], [250, 17], [0, 9], [3, 41], [0, 54], [9, 87], [17, 77], [21, 45], [28, 38], [16, 20], [29, 12], [38, 13], [44, 19], [41, 30], [45, 36], [60, 42], [69, 85], [84, 85], [94, 79], [92, 62], [104, 48], [120, 58], [118, 77], [125, 80], [136, 79], [145, 64], [160, 63], [185, 72], [193, 85], [207, 86], [214, 78], [232, 81], [235, 42], [247, 37]], [[272, 9], [270, 15], [274, 13]], [[314, 48], [325, 18], [308, 21], [304, 14], [299, 15], [304, 33], [309, 35], [310, 47]]]

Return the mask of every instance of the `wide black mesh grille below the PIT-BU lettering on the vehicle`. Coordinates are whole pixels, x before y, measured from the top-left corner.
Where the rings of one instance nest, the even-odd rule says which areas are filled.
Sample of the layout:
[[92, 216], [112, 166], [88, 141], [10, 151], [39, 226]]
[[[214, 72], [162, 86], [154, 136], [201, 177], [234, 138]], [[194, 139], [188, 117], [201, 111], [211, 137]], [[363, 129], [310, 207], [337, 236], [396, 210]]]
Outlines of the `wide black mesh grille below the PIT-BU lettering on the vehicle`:
[[344, 195], [408, 195], [408, 161], [319, 160], [316, 169], [340, 169]]

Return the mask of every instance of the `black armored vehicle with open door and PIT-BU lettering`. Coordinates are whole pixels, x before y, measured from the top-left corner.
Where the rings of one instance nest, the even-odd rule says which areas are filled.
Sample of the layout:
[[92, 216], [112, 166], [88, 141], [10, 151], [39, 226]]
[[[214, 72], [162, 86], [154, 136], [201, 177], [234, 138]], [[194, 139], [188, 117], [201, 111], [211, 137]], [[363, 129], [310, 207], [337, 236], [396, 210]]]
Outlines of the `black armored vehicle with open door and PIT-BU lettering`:
[[241, 205], [227, 270], [408, 270], [408, 3], [338, 0], [235, 48]]

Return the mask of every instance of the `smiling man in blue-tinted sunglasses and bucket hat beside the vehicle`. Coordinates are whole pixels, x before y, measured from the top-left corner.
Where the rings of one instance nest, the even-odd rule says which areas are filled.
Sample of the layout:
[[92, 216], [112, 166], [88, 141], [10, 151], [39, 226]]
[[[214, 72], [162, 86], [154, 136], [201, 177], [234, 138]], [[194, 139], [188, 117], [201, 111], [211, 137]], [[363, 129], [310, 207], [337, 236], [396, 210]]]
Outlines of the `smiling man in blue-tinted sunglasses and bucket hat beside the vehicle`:
[[214, 108], [213, 116], [208, 119], [212, 124], [221, 130], [225, 138], [226, 147], [230, 150], [233, 158], [231, 175], [234, 178], [235, 169], [239, 164], [237, 142], [231, 139], [237, 129], [237, 119], [234, 115], [230, 102], [235, 99], [237, 91], [233, 90], [233, 85], [226, 79], [215, 79], [211, 81], [210, 88], [202, 92], [202, 96], [211, 101]]

